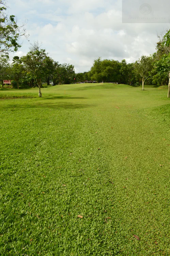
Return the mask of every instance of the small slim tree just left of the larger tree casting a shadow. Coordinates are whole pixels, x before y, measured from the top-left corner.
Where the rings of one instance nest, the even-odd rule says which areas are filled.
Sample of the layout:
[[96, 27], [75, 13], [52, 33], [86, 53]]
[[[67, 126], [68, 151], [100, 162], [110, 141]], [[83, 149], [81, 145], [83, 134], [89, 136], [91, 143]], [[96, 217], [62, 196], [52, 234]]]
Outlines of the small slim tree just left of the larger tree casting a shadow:
[[24, 66], [18, 56], [13, 57], [12, 79], [17, 83], [19, 89], [19, 80], [24, 76]]

